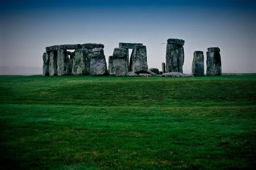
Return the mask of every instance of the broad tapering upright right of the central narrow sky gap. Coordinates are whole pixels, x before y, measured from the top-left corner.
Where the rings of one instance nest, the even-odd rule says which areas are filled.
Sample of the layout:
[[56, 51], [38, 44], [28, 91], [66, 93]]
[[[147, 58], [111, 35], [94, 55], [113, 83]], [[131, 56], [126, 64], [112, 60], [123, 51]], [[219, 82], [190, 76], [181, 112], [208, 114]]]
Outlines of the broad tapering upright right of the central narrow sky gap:
[[136, 74], [146, 73], [148, 70], [147, 66], [147, 50], [144, 45], [135, 45], [132, 49], [130, 59], [130, 71]]

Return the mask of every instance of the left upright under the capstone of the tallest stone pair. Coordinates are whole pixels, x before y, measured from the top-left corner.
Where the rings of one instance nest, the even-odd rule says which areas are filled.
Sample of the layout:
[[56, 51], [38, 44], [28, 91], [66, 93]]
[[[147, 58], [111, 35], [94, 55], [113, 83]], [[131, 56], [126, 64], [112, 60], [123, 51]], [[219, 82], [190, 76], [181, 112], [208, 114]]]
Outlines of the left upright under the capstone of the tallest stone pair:
[[174, 44], [166, 45], [166, 72], [178, 72], [178, 46]]

